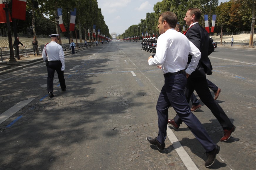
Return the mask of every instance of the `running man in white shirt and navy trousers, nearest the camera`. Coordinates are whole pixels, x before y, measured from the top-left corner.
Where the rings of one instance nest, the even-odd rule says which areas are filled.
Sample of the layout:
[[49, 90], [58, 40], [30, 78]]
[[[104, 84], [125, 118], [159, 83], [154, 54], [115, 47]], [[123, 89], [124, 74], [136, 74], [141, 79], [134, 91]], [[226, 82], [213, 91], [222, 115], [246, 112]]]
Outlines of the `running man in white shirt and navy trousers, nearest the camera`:
[[[184, 95], [187, 84], [187, 77], [193, 74], [200, 60], [201, 53], [187, 37], [174, 30], [177, 23], [177, 16], [173, 12], [164, 12], [158, 20], [159, 33], [157, 51], [154, 56], [148, 58], [149, 65], [162, 65], [165, 77], [165, 84], [157, 100], [158, 135], [156, 138], [147, 137], [147, 141], [157, 146], [158, 149], [165, 149], [167, 137], [168, 108], [174, 108], [180, 118], [187, 124], [196, 139], [206, 150], [207, 160], [205, 166], [213, 164], [220, 147], [213, 143], [210, 136], [196, 116], [190, 111], [189, 104]], [[188, 55], [192, 56], [189, 66], [186, 68]]]

